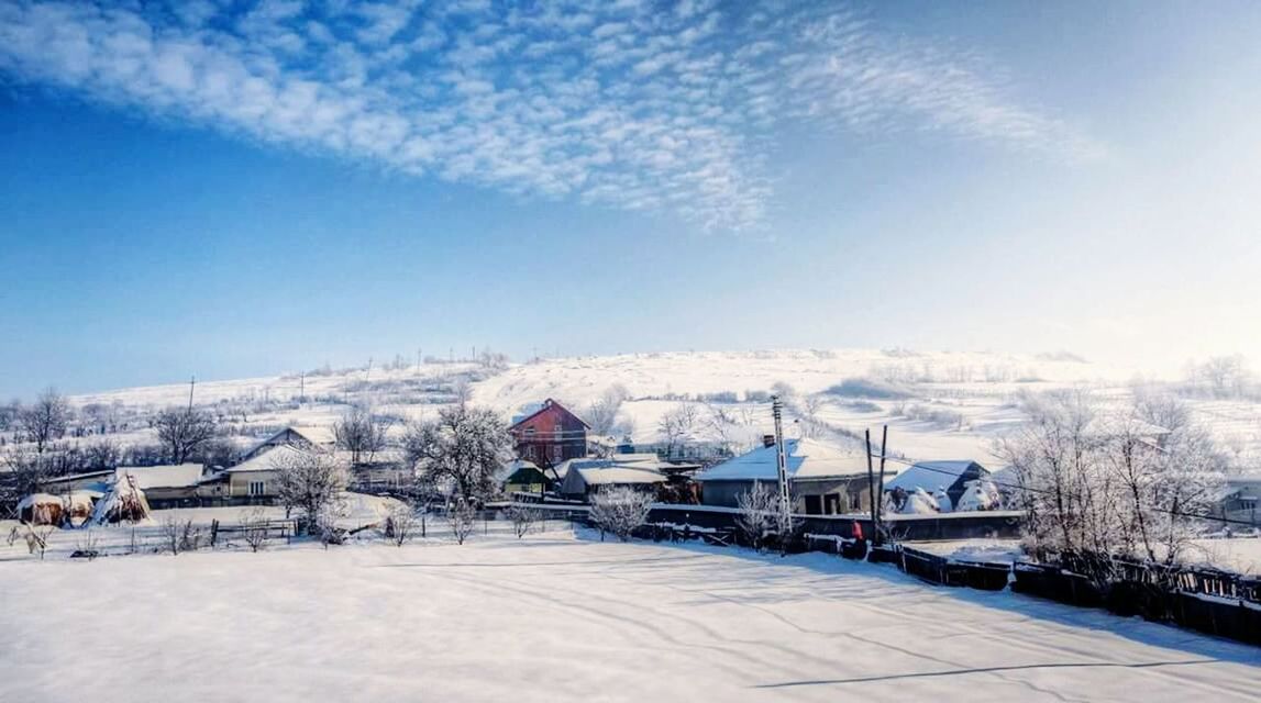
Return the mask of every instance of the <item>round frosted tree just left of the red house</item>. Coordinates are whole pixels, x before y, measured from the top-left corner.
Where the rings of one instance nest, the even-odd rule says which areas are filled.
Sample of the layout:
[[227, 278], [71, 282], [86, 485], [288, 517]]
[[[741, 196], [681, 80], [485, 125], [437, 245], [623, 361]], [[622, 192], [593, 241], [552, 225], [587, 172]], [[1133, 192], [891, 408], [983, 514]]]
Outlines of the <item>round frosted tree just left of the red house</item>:
[[493, 496], [496, 474], [512, 457], [512, 436], [503, 418], [468, 406], [444, 407], [436, 420], [412, 425], [404, 446], [426, 481], [449, 483], [464, 500]]

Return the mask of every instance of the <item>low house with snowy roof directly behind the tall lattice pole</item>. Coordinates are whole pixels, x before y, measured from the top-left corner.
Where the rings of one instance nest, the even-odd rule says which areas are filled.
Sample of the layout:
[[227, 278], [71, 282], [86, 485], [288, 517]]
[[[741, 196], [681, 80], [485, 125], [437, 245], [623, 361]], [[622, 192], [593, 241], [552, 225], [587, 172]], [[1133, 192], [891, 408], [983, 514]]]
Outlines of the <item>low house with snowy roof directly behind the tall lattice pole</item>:
[[[865, 513], [871, 508], [868, 460], [861, 452], [818, 440], [784, 440], [793, 512], [806, 515]], [[763, 446], [696, 476], [701, 504], [735, 508], [758, 484], [778, 490], [778, 452], [773, 437]]]

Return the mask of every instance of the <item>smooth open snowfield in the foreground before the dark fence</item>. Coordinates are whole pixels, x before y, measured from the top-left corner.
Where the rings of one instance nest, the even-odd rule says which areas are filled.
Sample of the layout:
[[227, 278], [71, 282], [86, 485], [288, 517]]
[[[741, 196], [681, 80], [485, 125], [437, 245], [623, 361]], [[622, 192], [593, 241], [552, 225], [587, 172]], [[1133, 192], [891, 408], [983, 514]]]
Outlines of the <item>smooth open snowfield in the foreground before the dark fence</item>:
[[1261, 695], [1257, 649], [822, 554], [555, 534], [0, 558], [0, 700]]

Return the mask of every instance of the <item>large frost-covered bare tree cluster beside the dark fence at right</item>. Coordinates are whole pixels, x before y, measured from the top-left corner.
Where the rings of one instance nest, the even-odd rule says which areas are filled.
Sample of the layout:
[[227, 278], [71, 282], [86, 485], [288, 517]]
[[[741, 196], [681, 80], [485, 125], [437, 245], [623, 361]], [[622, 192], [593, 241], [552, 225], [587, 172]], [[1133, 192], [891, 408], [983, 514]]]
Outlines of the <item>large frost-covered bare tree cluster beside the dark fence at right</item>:
[[1031, 553], [1173, 562], [1202, 529], [1223, 481], [1222, 455], [1185, 408], [1139, 397], [1108, 409], [1078, 391], [1026, 409], [1030, 421], [1001, 454], [1015, 471]]

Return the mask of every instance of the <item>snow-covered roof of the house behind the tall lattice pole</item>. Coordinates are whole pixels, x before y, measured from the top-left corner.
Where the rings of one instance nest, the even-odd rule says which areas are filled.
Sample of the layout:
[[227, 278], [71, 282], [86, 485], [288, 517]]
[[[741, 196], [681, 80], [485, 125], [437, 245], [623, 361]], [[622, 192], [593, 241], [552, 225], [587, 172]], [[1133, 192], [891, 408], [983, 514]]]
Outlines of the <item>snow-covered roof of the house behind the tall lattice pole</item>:
[[[866, 455], [818, 440], [784, 440], [788, 475], [793, 479], [866, 475]], [[696, 476], [697, 481], [774, 481], [779, 476], [774, 446], [758, 447]], [[889, 467], [885, 467], [885, 472]]]

